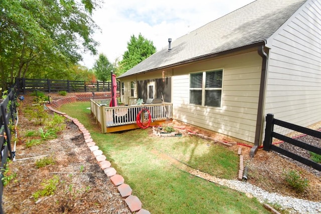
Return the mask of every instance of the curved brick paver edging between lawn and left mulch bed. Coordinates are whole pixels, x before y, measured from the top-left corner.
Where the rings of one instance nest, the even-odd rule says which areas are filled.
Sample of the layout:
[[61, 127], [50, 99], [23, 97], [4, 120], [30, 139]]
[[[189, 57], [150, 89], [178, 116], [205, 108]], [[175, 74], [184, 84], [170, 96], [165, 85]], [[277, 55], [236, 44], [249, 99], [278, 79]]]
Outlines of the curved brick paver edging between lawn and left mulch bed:
[[138, 199], [138, 197], [131, 194], [132, 189], [130, 188], [130, 186], [124, 183], [124, 178], [121, 175], [117, 174], [116, 169], [111, 167], [111, 163], [108, 160], [106, 160], [106, 156], [103, 155], [103, 152], [101, 150], [99, 150], [99, 147], [93, 141], [89, 131], [84, 127], [84, 125], [82, 125], [78, 121], [78, 119], [72, 118], [64, 112], [60, 112], [51, 106], [47, 106], [47, 107], [51, 111], [56, 112], [57, 114], [63, 115], [64, 117], [72, 120], [74, 124], [78, 126], [79, 130], [83, 133], [87, 146], [95, 156], [100, 168], [104, 171], [105, 175], [109, 177], [111, 183], [117, 187], [121, 197], [124, 198], [130, 211], [135, 212], [137, 214], [148, 214], [148, 213], [150, 214], [148, 210], [141, 208], [141, 202]]

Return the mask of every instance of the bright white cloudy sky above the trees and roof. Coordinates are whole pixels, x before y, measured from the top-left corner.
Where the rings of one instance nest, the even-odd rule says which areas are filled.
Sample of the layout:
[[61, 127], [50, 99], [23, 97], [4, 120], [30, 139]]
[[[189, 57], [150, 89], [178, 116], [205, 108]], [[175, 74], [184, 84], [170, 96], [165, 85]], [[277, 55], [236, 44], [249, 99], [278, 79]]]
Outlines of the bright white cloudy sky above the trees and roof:
[[[92, 18], [99, 26], [93, 38], [100, 44], [98, 54], [110, 63], [127, 50], [130, 37], [139, 33], [152, 41], [157, 51], [209, 22], [229, 14], [254, 0], [102, 0]], [[80, 64], [92, 68], [98, 55], [83, 54]]]

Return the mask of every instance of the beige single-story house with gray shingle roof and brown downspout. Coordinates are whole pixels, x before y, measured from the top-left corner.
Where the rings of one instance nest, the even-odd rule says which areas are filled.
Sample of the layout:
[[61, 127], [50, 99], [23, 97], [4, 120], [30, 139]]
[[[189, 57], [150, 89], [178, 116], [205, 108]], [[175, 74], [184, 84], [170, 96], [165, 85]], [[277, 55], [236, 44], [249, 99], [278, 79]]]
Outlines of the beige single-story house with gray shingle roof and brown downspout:
[[254, 144], [265, 115], [321, 120], [321, 2], [257, 0], [169, 40], [119, 76], [123, 100], [160, 97], [173, 119]]

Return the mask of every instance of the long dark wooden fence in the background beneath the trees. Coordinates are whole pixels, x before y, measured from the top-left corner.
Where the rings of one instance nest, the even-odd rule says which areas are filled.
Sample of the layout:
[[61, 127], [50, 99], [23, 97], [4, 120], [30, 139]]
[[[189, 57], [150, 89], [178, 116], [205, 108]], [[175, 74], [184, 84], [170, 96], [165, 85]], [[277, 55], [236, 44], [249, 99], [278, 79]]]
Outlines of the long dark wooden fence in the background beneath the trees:
[[[49, 79], [16, 79], [17, 89], [24, 94], [35, 89], [43, 92], [103, 92], [111, 91], [111, 82], [85, 82], [73, 80], [49, 80]], [[119, 82], [117, 82], [119, 90]]]

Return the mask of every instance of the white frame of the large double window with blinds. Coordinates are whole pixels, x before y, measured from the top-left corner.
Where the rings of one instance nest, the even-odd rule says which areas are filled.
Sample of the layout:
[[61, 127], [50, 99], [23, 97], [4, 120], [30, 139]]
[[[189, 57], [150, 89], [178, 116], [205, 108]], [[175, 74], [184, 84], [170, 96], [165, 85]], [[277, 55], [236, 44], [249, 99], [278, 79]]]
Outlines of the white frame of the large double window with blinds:
[[[221, 87], [218, 88], [206, 88], [206, 74], [211, 73], [211, 72], [222, 72], [222, 81], [221, 81]], [[191, 75], [192, 74], [202, 74], [202, 87], [199, 88], [192, 88], [191, 87]], [[190, 73], [190, 93], [189, 93], [189, 103], [190, 105], [196, 105], [196, 106], [206, 106], [209, 108], [222, 108], [222, 97], [223, 97], [223, 77], [224, 77], [224, 69], [213, 69], [213, 70], [206, 70], [206, 71], [201, 71], [201, 72], [193, 72]], [[192, 91], [202, 91], [202, 96], [199, 98], [201, 99], [201, 105], [196, 104], [196, 103], [191, 103], [191, 93]], [[205, 105], [206, 101], [206, 91], [211, 91], [211, 90], [216, 90], [216, 91], [221, 91], [221, 99], [220, 99], [220, 106], [211, 106], [211, 105]], [[198, 100], [200, 101], [200, 100]]]

